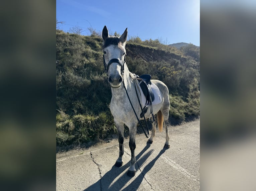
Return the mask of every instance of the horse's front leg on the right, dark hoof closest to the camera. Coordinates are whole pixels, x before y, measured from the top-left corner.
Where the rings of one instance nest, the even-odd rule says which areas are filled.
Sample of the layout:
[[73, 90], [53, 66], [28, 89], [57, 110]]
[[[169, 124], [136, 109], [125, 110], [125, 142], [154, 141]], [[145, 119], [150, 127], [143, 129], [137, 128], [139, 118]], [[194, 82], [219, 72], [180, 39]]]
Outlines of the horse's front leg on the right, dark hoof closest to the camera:
[[136, 148], [136, 144], [135, 144], [135, 135], [136, 135], [136, 123], [133, 124], [131, 127], [129, 127], [129, 147], [131, 150], [131, 166], [128, 169], [128, 176], [134, 176], [136, 169], [135, 169], [135, 162], [136, 162], [136, 158], [135, 158], [135, 148]]

